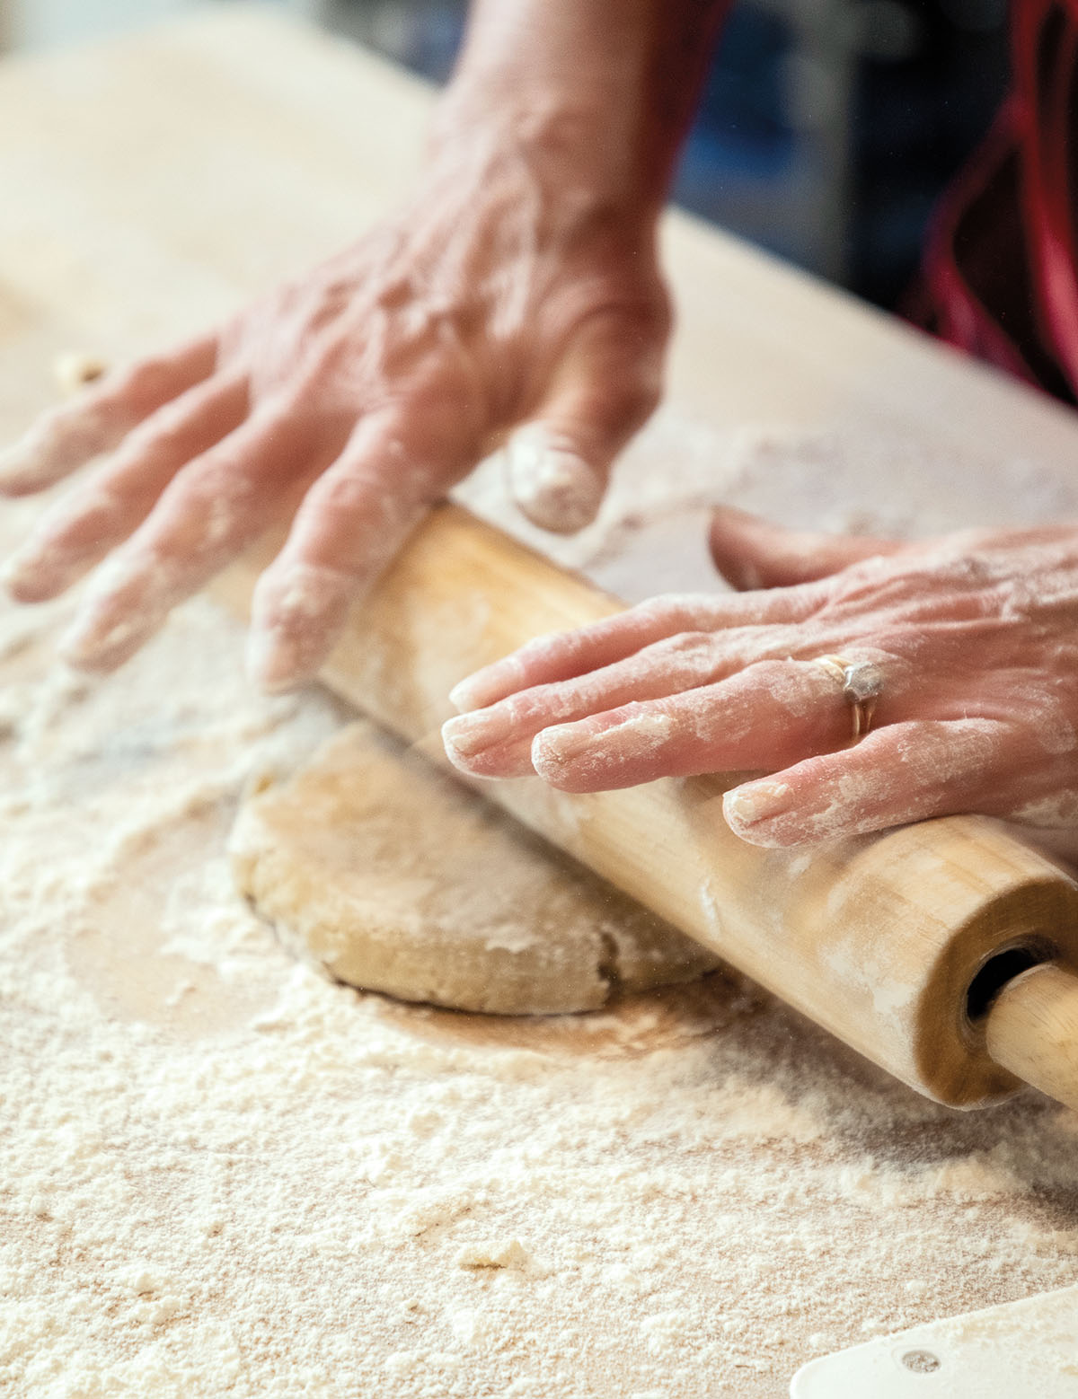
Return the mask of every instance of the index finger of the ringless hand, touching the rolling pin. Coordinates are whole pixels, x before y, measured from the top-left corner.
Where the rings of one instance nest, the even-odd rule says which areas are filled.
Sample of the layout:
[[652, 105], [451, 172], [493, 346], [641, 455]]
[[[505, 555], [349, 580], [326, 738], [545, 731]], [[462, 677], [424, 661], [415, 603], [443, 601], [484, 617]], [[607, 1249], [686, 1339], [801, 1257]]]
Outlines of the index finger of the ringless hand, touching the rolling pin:
[[248, 672], [256, 684], [287, 690], [318, 672], [349, 606], [465, 474], [468, 452], [431, 427], [419, 410], [365, 418], [307, 492], [255, 589]]

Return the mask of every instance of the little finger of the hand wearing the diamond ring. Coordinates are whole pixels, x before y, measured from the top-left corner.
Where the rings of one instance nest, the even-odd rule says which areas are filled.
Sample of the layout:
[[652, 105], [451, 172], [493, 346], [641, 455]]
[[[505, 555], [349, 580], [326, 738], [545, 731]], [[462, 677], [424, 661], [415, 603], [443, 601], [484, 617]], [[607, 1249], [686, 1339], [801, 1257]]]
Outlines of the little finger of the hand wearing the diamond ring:
[[1012, 737], [993, 719], [896, 723], [846, 751], [734, 788], [724, 813], [752, 845], [785, 846], [994, 810]]

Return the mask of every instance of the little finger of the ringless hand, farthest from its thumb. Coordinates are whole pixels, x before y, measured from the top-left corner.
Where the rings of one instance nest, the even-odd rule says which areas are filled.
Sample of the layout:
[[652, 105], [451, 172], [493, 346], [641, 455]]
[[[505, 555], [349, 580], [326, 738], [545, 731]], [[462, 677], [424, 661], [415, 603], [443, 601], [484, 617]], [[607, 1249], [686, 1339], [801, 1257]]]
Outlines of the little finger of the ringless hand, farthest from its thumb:
[[118, 446], [130, 429], [213, 374], [217, 341], [204, 336], [169, 354], [105, 375], [77, 399], [43, 413], [0, 452], [0, 494], [31, 495]]

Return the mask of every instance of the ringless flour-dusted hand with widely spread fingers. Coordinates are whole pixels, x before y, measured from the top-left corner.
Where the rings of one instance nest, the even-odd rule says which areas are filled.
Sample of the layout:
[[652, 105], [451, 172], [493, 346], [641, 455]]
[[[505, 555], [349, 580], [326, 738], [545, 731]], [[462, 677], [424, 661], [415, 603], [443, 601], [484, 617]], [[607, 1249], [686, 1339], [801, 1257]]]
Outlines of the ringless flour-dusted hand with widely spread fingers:
[[300, 501], [252, 617], [251, 669], [286, 688], [315, 673], [427, 505], [511, 429], [522, 509], [580, 527], [659, 393], [654, 222], [542, 133], [442, 133], [395, 218], [3, 453], [6, 495], [112, 453], [8, 562], [11, 595], [55, 597], [108, 555], [64, 651], [112, 670]]

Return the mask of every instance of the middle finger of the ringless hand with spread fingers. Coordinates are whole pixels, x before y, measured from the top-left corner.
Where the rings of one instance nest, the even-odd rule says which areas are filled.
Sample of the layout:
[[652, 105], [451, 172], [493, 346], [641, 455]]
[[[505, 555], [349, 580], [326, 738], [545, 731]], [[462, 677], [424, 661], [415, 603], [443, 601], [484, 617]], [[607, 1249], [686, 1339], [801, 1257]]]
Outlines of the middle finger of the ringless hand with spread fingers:
[[318, 470], [309, 420], [287, 406], [248, 418], [172, 480], [98, 569], [62, 641], [83, 670], [115, 670], [176, 603], [259, 537], [297, 473]]

